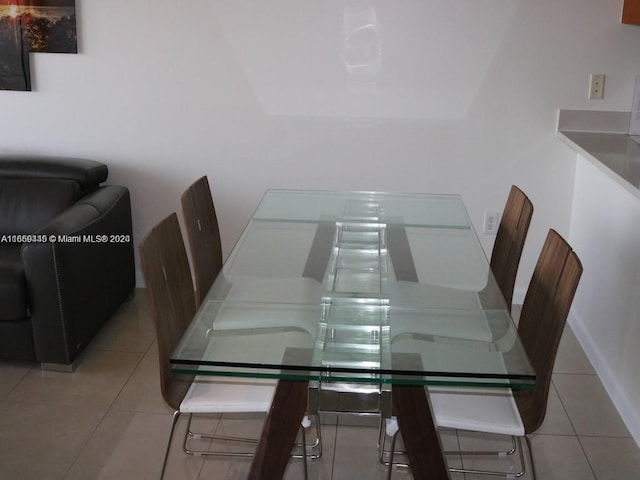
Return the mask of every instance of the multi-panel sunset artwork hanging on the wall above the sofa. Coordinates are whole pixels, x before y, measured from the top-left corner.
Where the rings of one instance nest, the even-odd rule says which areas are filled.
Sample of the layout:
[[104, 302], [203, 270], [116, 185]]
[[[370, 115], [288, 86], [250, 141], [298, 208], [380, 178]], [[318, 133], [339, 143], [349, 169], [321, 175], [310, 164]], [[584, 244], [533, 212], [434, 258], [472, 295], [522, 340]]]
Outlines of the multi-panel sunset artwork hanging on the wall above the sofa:
[[77, 51], [75, 0], [0, 0], [0, 90], [31, 90], [29, 52]]

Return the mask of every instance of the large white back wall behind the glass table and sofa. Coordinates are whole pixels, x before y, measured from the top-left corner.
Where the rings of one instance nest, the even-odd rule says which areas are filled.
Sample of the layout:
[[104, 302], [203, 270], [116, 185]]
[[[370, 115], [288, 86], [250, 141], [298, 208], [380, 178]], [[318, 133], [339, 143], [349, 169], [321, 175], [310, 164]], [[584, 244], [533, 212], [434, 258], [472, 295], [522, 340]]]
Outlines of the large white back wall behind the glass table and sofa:
[[[108, 163], [136, 243], [203, 174], [225, 254], [267, 188], [459, 192], [479, 227], [516, 183], [535, 205], [520, 291], [547, 229], [568, 231], [557, 109], [628, 110], [640, 74], [622, 0], [76, 5], [80, 54], [32, 54], [34, 91], [0, 92], [0, 153]], [[345, 37], [367, 17], [377, 32]]]

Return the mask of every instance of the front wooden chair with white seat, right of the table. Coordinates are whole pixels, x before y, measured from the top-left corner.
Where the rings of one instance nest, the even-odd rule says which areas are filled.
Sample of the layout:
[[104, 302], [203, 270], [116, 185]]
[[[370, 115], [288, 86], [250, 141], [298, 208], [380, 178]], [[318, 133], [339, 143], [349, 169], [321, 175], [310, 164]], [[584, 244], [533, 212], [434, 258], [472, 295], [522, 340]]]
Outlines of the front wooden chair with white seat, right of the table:
[[[524, 437], [531, 457], [532, 478], [535, 478], [527, 435], [535, 432], [544, 420], [553, 365], [581, 275], [582, 264], [576, 253], [555, 230], [550, 230], [533, 272], [518, 324], [518, 336], [536, 372], [534, 388], [429, 387], [438, 427], [513, 437], [513, 448], [508, 452], [445, 453], [503, 456], [517, 451], [522, 467], [520, 473], [455, 468], [450, 471], [519, 477], [525, 471], [521, 442]], [[397, 423], [393, 422], [391, 419], [390, 428], [392, 432], [395, 429], [397, 435]]]

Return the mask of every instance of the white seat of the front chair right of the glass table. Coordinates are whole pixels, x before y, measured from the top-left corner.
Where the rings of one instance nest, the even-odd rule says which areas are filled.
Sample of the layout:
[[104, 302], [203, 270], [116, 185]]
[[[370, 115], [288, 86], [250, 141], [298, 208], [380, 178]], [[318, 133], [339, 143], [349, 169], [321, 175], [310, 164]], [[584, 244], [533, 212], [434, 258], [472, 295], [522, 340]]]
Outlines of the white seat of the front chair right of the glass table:
[[524, 425], [508, 388], [429, 387], [439, 427], [524, 436]]

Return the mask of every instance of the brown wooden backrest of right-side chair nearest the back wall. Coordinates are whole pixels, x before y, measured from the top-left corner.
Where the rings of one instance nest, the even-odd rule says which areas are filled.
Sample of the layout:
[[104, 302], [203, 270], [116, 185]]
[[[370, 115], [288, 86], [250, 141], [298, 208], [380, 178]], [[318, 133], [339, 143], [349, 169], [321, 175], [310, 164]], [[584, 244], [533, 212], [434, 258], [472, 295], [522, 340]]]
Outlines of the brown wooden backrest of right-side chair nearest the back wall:
[[491, 252], [491, 271], [509, 309], [513, 301], [513, 287], [532, 215], [533, 204], [522, 190], [513, 185]]

